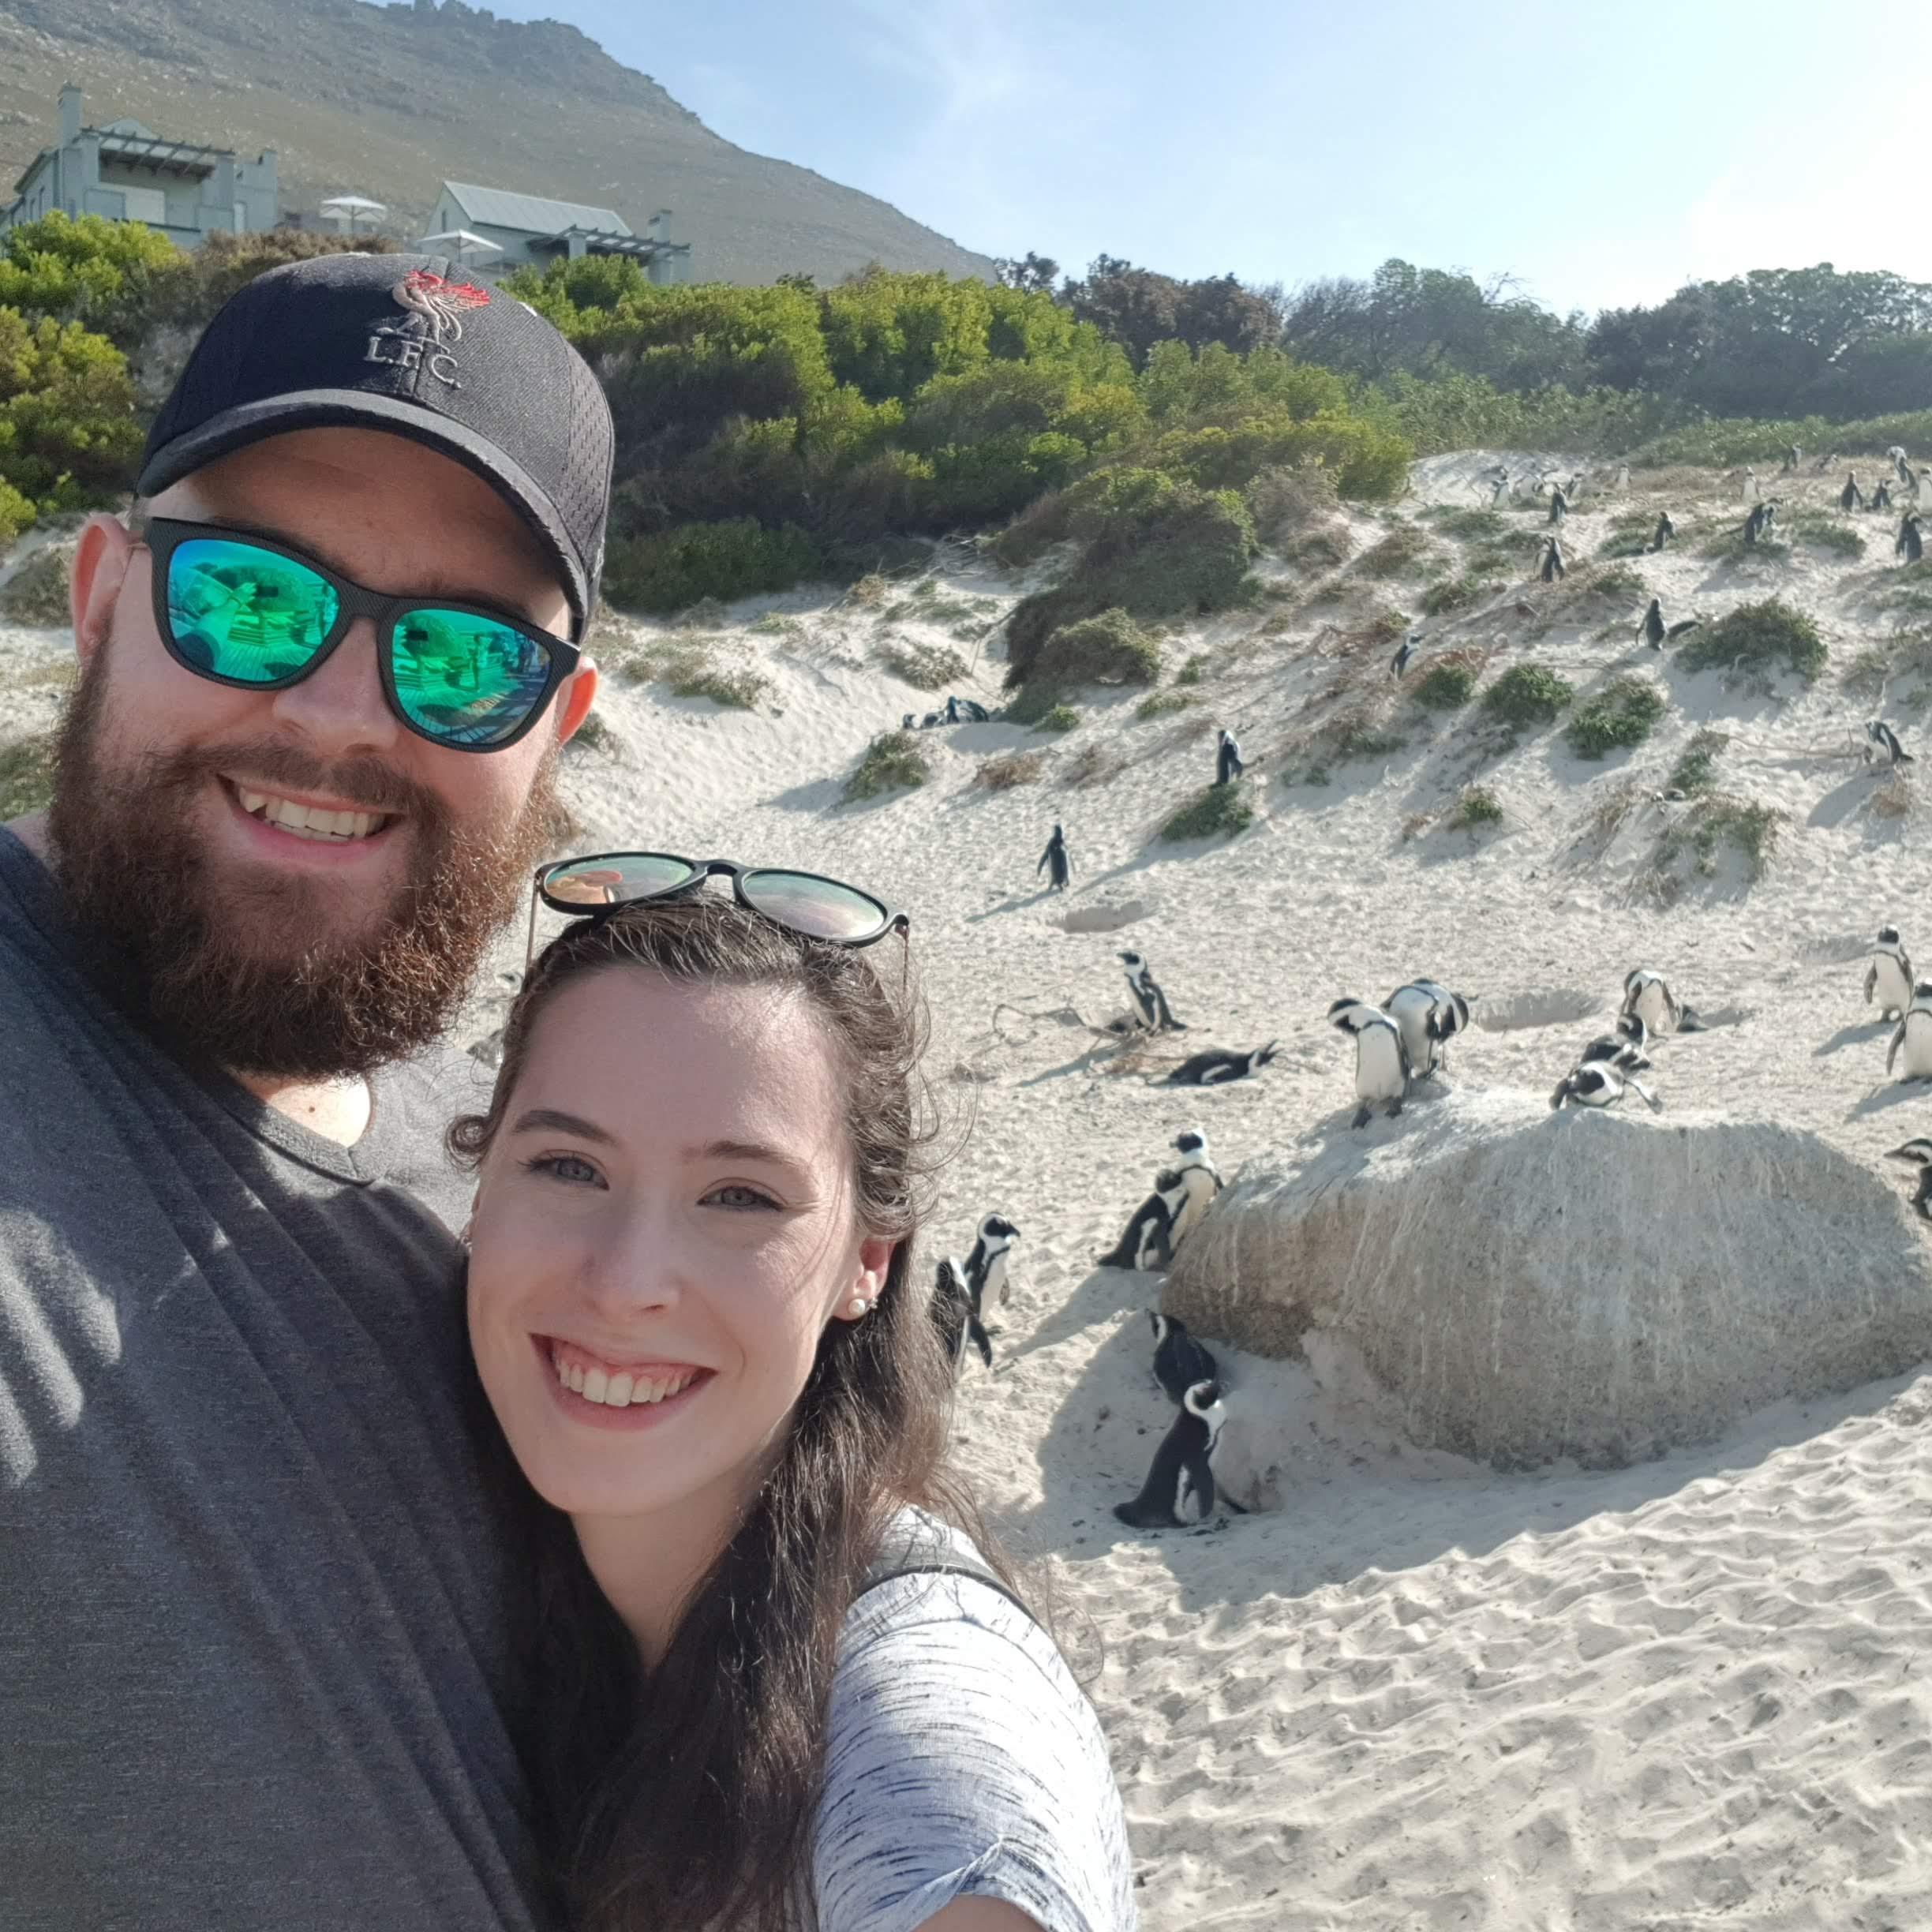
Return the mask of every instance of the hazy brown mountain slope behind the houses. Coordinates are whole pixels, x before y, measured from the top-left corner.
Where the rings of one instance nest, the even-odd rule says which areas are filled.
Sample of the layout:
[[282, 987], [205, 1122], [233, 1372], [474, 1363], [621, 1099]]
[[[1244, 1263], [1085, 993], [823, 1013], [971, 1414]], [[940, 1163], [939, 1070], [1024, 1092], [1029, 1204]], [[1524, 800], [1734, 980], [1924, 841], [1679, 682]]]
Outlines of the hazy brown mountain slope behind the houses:
[[873, 195], [721, 139], [576, 27], [464, 0], [0, 0], [0, 193], [52, 141], [66, 81], [93, 126], [276, 149], [282, 207], [311, 220], [357, 191], [421, 234], [448, 178], [614, 207], [639, 232], [670, 209], [701, 280], [991, 272]]

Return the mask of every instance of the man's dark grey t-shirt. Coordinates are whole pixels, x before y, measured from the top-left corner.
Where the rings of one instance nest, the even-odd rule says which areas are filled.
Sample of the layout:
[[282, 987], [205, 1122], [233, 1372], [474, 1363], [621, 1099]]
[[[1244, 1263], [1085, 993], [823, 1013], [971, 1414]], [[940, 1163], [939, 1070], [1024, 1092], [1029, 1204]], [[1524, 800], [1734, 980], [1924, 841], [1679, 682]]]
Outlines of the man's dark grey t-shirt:
[[0, 831], [4, 1932], [543, 1922], [440, 1148], [477, 1099], [384, 1076], [344, 1150], [191, 1076]]

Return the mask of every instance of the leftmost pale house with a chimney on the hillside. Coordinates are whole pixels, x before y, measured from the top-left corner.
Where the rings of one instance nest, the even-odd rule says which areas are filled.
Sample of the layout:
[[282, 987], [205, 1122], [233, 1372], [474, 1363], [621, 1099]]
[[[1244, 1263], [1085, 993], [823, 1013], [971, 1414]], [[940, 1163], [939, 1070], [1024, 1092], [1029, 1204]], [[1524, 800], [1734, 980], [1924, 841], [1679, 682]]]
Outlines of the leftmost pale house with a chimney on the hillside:
[[41, 149], [0, 209], [0, 234], [62, 209], [147, 222], [182, 247], [211, 234], [249, 234], [278, 220], [274, 149], [242, 160], [230, 147], [172, 141], [135, 120], [81, 124], [81, 89], [60, 89], [60, 139]]

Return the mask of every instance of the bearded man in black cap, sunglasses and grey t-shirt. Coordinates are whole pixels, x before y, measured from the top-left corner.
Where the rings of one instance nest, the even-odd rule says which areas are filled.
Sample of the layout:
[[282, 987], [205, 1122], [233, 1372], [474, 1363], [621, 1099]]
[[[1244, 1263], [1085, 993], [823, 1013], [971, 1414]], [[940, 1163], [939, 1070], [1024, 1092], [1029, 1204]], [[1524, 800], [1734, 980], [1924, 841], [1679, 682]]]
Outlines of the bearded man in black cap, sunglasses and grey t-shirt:
[[338, 255], [85, 527], [0, 829], [10, 1932], [549, 1922], [435, 1041], [549, 844], [609, 481], [549, 323]]

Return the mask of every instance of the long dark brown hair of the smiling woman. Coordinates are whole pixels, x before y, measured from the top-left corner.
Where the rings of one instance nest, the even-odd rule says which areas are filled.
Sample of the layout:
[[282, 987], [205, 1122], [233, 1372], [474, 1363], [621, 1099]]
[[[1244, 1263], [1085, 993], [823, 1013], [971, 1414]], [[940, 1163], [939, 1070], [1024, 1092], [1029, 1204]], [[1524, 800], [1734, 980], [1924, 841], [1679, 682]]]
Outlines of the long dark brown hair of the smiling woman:
[[[655, 1669], [597, 1590], [568, 1519], [543, 1511], [533, 1772], [539, 1830], [580, 1932], [792, 1924], [838, 1625], [896, 1509], [966, 1528], [1014, 1582], [945, 1468], [952, 1370], [912, 1254], [935, 1132], [920, 1080], [923, 1009], [900, 980], [900, 945], [823, 945], [715, 895], [583, 920], [553, 941], [510, 1010], [489, 1111], [450, 1128], [460, 1159], [489, 1153], [537, 1018], [589, 974], [790, 987], [838, 1047], [860, 1225], [896, 1240], [871, 1314], [827, 1325], [784, 1449]], [[885, 974], [873, 954], [889, 958]]]

